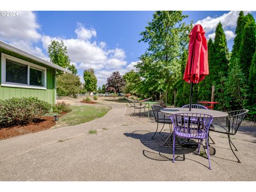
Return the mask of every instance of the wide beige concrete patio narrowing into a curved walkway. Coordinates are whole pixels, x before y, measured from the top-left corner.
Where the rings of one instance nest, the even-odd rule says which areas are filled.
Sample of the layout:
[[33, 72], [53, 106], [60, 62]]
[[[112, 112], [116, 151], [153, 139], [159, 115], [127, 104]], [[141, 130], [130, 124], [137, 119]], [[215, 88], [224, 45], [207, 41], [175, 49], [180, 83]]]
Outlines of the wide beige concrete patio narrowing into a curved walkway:
[[[107, 115], [91, 122], [0, 141], [1, 181], [236, 181], [255, 180], [255, 132], [237, 133], [242, 163], [229, 150], [226, 135], [213, 133], [213, 170], [195, 149], [163, 147], [165, 132], [151, 136], [153, 118], [131, 116], [124, 104], [109, 105]], [[255, 127], [253, 127], [255, 128]], [[98, 131], [90, 135], [89, 130]], [[175, 152], [176, 153], [176, 152]]]

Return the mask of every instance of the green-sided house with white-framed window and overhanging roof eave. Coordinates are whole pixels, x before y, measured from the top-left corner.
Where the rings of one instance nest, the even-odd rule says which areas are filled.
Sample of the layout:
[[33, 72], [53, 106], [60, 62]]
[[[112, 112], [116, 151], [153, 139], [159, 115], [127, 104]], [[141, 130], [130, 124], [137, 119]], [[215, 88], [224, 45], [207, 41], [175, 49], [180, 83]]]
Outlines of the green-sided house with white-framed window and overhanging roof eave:
[[56, 101], [56, 71], [69, 70], [0, 41], [0, 99], [37, 97]]

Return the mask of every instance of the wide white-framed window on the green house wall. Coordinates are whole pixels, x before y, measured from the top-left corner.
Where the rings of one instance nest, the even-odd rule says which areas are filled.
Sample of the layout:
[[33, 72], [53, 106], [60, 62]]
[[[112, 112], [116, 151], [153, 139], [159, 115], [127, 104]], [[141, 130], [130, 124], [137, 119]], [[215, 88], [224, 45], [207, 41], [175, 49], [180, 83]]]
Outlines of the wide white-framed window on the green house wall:
[[46, 68], [2, 53], [1, 86], [46, 89]]

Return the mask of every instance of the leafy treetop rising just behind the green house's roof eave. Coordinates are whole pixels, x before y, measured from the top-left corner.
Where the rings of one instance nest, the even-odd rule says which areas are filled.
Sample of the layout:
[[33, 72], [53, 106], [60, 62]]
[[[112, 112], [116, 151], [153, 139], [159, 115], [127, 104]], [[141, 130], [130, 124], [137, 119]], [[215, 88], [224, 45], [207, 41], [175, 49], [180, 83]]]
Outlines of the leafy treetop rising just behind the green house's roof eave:
[[53, 40], [48, 47], [48, 55], [51, 62], [63, 68], [67, 68], [70, 63], [67, 53], [67, 46], [64, 45], [63, 41]]

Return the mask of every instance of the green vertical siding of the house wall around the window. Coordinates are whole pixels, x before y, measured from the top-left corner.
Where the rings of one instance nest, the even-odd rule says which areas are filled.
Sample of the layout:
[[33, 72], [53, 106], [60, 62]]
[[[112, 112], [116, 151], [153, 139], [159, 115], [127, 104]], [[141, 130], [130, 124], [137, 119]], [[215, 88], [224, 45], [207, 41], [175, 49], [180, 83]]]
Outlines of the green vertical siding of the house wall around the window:
[[8, 99], [12, 97], [38, 97], [41, 100], [47, 101], [51, 104], [55, 103], [55, 69], [37, 61], [23, 57], [22, 55], [4, 50], [0, 47], [0, 82], [1, 82], [1, 53], [9, 54], [13, 57], [35, 63], [36, 65], [46, 68], [46, 90], [20, 88], [20, 87], [6, 87], [0, 84], [0, 99]]

